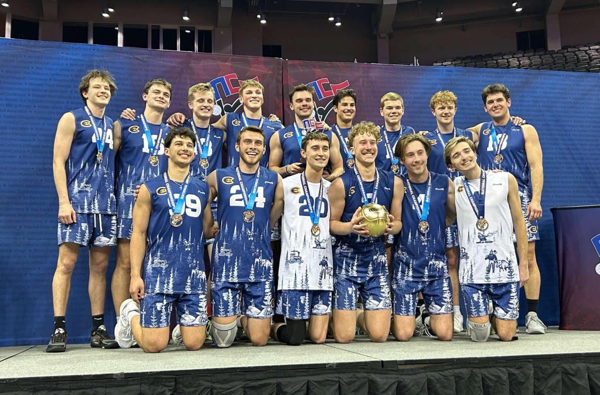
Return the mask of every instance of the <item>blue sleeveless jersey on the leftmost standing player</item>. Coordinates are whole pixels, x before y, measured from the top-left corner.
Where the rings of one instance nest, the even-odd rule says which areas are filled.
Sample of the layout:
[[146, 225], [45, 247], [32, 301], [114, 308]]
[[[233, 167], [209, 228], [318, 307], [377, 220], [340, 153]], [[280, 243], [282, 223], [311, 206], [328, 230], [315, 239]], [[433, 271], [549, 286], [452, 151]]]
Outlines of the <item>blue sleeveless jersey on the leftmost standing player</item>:
[[[80, 214], [115, 214], [115, 151], [113, 121], [106, 116], [106, 140], [102, 161], [98, 164], [94, 127], [85, 109], [71, 111], [75, 116], [75, 136], [65, 163], [67, 190], [71, 206]], [[104, 119], [95, 118], [100, 133]]]

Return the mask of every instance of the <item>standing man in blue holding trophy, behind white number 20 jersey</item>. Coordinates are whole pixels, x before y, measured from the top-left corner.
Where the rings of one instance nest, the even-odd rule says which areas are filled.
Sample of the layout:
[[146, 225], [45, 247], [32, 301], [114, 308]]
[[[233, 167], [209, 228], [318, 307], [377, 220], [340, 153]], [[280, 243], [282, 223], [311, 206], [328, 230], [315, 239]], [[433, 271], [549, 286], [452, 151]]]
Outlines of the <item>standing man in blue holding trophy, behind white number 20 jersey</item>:
[[[304, 171], [305, 160], [300, 155], [302, 137], [306, 136], [307, 130], [302, 121], [311, 118], [314, 110], [314, 88], [309, 85], [296, 85], [289, 93], [290, 110], [294, 113], [294, 123], [277, 133], [273, 134], [269, 145], [271, 153], [269, 156], [269, 169], [278, 172], [282, 177], [293, 175]], [[329, 161], [331, 163], [331, 174], [325, 179], [333, 181], [344, 172], [344, 165], [340, 155], [340, 140], [332, 136], [331, 130], [323, 131], [331, 139], [331, 151]]]

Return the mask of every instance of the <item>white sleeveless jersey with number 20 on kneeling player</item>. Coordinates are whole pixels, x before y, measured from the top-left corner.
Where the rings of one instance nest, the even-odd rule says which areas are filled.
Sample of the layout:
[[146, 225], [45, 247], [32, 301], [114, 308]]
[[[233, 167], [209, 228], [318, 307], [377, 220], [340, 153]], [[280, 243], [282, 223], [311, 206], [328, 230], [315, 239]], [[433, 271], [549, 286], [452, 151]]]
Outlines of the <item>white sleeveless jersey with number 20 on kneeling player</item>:
[[320, 234], [311, 233], [313, 223], [308, 204], [319, 196], [319, 185], [307, 182], [311, 202], [302, 191], [300, 173], [283, 179], [285, 206], [281, 221], [281, 259], [278, 289], [333, 289], [333, 257], [329, 237], [329, 186], [323, 179], [323, 201], [319, 216]]

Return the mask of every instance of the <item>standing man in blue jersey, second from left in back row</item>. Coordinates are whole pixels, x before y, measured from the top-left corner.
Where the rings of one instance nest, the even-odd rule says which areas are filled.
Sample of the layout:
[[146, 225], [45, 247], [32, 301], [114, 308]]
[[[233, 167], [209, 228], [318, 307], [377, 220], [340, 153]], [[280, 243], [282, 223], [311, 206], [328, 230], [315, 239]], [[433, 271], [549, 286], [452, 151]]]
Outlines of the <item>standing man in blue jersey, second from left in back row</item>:
[[134, 193], [137, 185], [156, 178], [167, 169], [164, 139], [169, 127], [163, 123], [164, 111], [171, 103], [172, 86], [162, 78], [145, 83], [142, 100], [145, 109], [133, 121], [115, 121], [115, 140], [119, 142], [116, 157], [117, 252], [112, 291], [115, 312], [130, 298], [130, 240], [133, 229]]

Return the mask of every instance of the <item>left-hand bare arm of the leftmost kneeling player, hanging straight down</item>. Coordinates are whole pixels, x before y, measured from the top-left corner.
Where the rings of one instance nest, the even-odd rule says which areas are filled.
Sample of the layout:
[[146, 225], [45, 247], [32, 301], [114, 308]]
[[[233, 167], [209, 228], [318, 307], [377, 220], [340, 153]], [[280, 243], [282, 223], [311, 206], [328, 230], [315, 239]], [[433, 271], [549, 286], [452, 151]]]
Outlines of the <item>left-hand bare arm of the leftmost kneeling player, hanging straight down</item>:
[[146, 185], [140, 187], [136, 204], [133, 206], [133, 231], [131, 231], [130, 258], [131, 282], [129, 293], [131, 298], [140, 303], [144, 297], [144, 282], [142, 280], [142, 264], [146, 255], [146, 233], [152, 212], [150, 191]]

